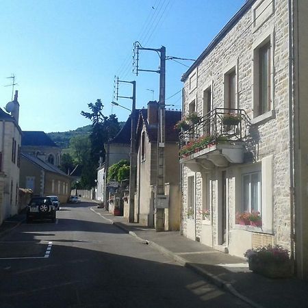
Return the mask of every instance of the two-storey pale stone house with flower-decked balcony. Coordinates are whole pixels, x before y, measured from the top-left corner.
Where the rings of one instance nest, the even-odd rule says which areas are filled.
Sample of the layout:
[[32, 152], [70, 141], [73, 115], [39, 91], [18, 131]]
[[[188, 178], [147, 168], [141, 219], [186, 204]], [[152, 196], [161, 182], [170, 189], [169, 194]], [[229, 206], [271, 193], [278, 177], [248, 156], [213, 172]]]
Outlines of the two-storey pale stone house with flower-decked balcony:
[[306, 278], [307, 13], [246, 1], [181, 79], [180, 136], [183, 234], [240, 257], [281, 244]]

